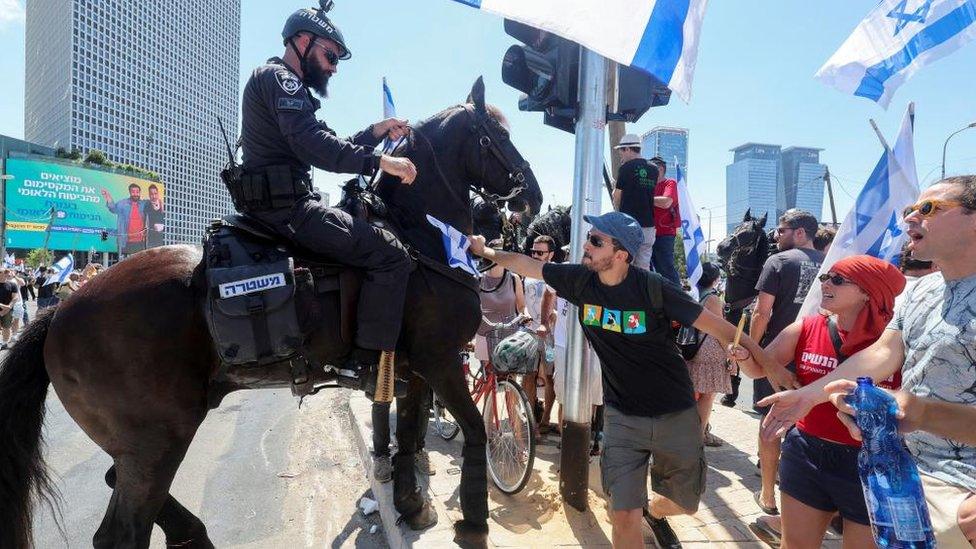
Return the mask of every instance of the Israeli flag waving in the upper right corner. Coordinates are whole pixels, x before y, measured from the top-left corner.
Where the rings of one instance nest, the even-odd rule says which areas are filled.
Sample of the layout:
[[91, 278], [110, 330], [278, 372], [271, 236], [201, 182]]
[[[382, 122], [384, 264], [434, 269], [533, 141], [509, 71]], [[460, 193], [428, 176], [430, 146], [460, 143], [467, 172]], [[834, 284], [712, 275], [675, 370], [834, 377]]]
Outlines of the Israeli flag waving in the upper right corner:
[[882, 0], [816, 78], [888, 108], [915, 71], [976, 37], [974, 23], [976, 0]]

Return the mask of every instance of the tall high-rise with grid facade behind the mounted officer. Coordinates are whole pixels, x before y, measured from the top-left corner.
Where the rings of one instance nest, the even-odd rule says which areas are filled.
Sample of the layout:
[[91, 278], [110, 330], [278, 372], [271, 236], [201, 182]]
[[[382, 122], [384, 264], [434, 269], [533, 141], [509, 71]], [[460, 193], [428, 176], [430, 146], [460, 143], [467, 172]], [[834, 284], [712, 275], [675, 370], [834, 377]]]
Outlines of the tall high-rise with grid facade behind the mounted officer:
[[233, 210], [220, 182], [240, 112], [240, 0], [30, 0], [27, 141], [159, 174], [166, 243]]

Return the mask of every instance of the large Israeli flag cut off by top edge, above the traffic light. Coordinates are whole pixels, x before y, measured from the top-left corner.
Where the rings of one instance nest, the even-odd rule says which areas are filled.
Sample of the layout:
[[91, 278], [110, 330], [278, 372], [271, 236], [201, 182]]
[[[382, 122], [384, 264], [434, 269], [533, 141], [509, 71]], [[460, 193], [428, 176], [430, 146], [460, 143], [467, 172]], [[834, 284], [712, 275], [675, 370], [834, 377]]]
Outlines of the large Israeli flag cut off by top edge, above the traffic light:
[[708, 0], [455, 0], [650, 73], [684, 102]]

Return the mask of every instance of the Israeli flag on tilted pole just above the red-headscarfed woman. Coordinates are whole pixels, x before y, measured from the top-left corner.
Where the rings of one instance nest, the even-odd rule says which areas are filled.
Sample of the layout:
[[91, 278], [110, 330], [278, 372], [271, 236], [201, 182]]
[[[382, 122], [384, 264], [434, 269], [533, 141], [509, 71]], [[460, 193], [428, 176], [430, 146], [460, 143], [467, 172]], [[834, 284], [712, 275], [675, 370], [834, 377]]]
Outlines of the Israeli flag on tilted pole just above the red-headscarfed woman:
[[[894, 150], [885, 147], [881, 160], [857, 196], [854, 209], [841, 223], [818, 275], [834, 263], [852, 255], [870, 255], [897, 263], [908, 228], [902, 211], [918, 199], [918, 174], [915, 171], [915, 105], [909, 104]], [[800, 314], [803, 318], [820, 307], [820, 285], [807, 293]]]

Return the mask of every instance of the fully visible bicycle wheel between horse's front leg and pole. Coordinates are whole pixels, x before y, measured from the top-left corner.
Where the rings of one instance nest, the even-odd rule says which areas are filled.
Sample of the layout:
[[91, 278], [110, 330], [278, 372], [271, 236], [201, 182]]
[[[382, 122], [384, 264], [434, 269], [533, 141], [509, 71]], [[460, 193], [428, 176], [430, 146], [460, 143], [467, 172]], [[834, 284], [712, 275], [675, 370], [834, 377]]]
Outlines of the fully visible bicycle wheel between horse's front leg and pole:
[[494, 393], [486, 395], [482, 418], [488, 435], [488, 474], [499, 490], [517, 494], [529, 481], [535, 461], [529, 398], [517, 383], [498, 380]]

